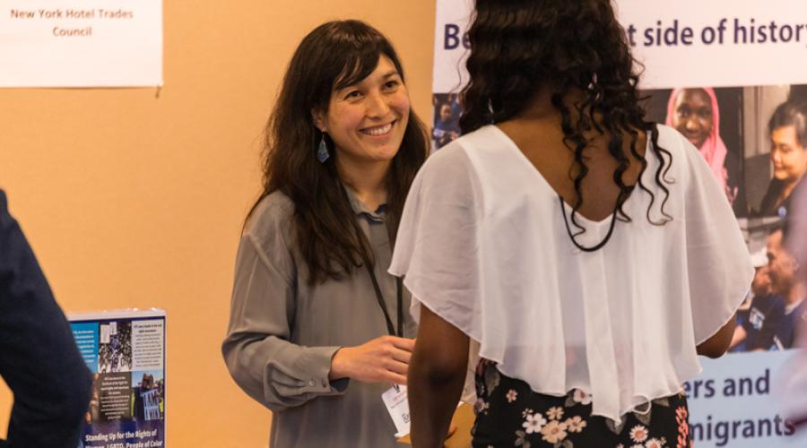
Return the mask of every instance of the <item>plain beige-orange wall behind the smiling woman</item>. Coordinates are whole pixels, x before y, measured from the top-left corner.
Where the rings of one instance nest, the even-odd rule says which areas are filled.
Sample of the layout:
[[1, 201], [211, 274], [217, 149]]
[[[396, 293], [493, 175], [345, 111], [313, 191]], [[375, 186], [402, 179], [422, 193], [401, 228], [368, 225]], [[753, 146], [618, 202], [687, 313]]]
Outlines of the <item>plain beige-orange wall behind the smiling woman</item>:
[[[220, 355], [266, 116], [308, 30], [393, 40], [430, 118], [434, 0], [165, 2], [165, 86], [0, 90], [0, 187], [68, 312], [168, 311], [168, 446], [265, 446], [269, 411]], [[2, 388], [0, 388], [2, 389]], [[0, 434], [11, 406], [0, 391]]]

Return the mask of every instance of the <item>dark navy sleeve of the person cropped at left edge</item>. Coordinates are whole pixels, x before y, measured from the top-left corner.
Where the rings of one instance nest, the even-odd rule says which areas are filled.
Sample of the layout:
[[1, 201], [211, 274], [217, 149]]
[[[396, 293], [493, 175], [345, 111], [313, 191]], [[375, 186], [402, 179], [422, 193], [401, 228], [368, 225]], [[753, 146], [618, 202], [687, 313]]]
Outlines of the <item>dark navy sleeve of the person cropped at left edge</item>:
[[14, 396], [9, 447], [75, 448], [90, 372], [2, 191], [0, 375]]

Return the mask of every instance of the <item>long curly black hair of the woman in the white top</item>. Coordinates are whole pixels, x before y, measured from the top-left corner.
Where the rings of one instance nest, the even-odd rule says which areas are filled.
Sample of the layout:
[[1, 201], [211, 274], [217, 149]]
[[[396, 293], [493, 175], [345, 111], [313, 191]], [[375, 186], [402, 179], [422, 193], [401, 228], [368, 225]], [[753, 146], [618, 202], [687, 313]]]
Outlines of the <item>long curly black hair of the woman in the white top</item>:
[[[470, 82], [463, 90], [460, 119], [464, 134], [515, 117], [536, 91], [551, 89], [551, 103], [561, 115], [564, 143], [575, 154], [573, 168], [577, 169], [572, 170], [572, 180], [577, 200], [571, 215], [575, 226], [581, 229], [576, 215], [583, 203], [580, 185], [588, 173], [583, 151], [591, 142], [586, 135], [592, 130], [608, 133], [608, 152], [618, 162], [613, 172], [613, 182], [620, 188], [614, 218], [630, 221], [622, 204], [635, 185], [625, 185], [622, 175], [629, 168], [629, 157], [641, 164], [644, 173], [647, 162], [638, 152], [637, 142], [640, 132], [649, 132], [652, 151], [660, 161], [655, 182], [664, 192], [664, 200], [662, 218], [652, 219], [655, 194], [638, 177], [639, 187], [652, 198], [647, 220], [655, 225], [672, 220], [664, 212], [670, 195], [664, 183], [672, 182], [665, 178], [672, 155], [658, 145], [656, 124], [645, 120], [639, 106], [638, 73], [610, 0], [476, 0], [468, 38]], [[575, 90], [585, 96], [574, 104], [573, 114], [566, 99]], [[630, 139], [629, 155], [623, 151], [625, 135]]]

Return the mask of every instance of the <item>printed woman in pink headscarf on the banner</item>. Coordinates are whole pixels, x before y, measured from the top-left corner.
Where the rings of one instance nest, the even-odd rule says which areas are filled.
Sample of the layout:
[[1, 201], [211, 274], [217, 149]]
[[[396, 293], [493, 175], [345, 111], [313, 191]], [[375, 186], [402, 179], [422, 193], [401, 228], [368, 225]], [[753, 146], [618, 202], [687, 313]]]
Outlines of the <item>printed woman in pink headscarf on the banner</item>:
[[742, 162], [720, 135], [720, 106], [711, 87], [675, 89], [667, 101], [665, 124], [683, 134], [706, 159], [738, 216], [746, 214]]

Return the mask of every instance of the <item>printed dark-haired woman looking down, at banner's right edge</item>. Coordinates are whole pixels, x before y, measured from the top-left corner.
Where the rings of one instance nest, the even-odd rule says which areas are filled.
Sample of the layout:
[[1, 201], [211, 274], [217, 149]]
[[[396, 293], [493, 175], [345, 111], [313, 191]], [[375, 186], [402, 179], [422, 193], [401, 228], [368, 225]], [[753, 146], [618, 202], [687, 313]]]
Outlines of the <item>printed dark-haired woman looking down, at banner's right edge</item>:
[[807, 172], [807, 101], [789, 99], [768, 122], [773, 177], [757, 214], [785, 217], [791, 196], [804, 188]]

